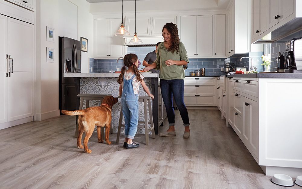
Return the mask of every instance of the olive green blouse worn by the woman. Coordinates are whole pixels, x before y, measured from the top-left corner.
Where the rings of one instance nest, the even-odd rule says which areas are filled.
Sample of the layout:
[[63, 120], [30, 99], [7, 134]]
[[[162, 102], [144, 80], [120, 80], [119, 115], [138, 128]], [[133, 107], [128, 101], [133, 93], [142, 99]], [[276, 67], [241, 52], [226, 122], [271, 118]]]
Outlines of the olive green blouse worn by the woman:
[[157, 53], [156, 53], [156, 60], [154, 62], [156, 63], [156, 70], [159, 70], [159, 78], [164, 80], [182, 80], [185, 78], [185, 70], [183, 66], [178, 65], [172, 65], [172, 66], [166, 66], [165, 61], [166, 60], [185, 60], [186, 62], [190, 62], [188, 58], [187, 51], [185, 49], [185, 45], [182, 42], [179, 42], [179, 52], [176, 54], [172, 54], [172, 52], [169, 52], [168, 49], [166, 49], [164, 42], [160, 43], [157, 46]]

